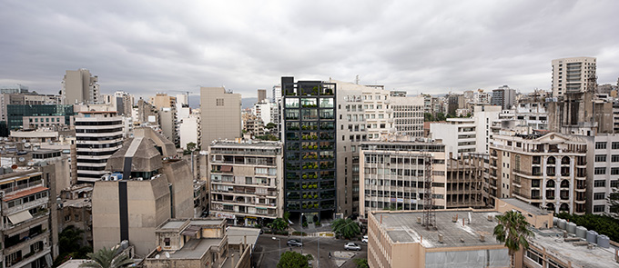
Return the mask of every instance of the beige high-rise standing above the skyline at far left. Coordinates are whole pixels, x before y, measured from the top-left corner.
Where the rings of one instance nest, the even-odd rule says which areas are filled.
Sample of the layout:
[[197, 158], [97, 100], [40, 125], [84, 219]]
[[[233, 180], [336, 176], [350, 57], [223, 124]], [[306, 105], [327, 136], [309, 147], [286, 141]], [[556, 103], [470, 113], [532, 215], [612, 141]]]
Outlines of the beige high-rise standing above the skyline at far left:
[[66, 70], [62, 81], [62, 99], [64, 104], [97, 104], [101, 102], [98, 76], [93, 76], [87, 69]]

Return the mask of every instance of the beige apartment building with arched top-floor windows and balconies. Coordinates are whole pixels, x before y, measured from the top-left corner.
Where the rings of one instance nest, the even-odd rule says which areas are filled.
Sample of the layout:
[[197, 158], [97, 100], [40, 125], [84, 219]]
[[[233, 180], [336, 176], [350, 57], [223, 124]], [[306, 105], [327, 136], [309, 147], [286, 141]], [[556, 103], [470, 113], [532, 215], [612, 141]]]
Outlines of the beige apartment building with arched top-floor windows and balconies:
[[556, 213], [585, 213], [587, 144], [582, 138], [499, 134], [490, 150], [490, 196], [514, 197]]

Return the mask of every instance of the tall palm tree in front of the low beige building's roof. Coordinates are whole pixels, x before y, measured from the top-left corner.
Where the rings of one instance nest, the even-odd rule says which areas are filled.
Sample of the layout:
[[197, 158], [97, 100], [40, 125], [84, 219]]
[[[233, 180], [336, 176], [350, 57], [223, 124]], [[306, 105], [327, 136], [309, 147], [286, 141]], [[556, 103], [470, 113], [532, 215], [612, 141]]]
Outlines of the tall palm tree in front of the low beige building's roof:
[[519, 212], [508, 211], [496, 216], [496, 219], [499, 224], [494, 227], [494, 237], [497, 241], [505, 243], [510, 254], [510, 266], [513, 267], [513, 254], [518, 252], [521, 246], [524, 250], [528, 249], [529, 242], [527, 242], [527, 239], [534, 236], [534, 233], [528, 229], [529, 223]]

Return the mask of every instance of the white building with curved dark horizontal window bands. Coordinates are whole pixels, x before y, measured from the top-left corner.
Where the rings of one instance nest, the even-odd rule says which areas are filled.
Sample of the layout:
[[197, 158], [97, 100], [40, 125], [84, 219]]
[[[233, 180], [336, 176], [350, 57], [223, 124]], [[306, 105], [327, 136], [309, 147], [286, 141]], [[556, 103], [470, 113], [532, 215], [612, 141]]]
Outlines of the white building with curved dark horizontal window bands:
[[123, 119], [116, 111], [83, 111], [75, 121], [77, 181], [94, 183], [106, 174], [107, 159], [123, 144]]

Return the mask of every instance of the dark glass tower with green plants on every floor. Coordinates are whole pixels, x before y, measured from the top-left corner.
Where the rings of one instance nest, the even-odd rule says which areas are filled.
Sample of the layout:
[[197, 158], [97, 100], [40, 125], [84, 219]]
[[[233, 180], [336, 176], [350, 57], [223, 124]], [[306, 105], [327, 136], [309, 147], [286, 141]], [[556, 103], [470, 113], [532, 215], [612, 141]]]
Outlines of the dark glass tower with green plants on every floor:
[[282, 77], [286, 210], [309, 223], [336, 209], [336, 86]]

